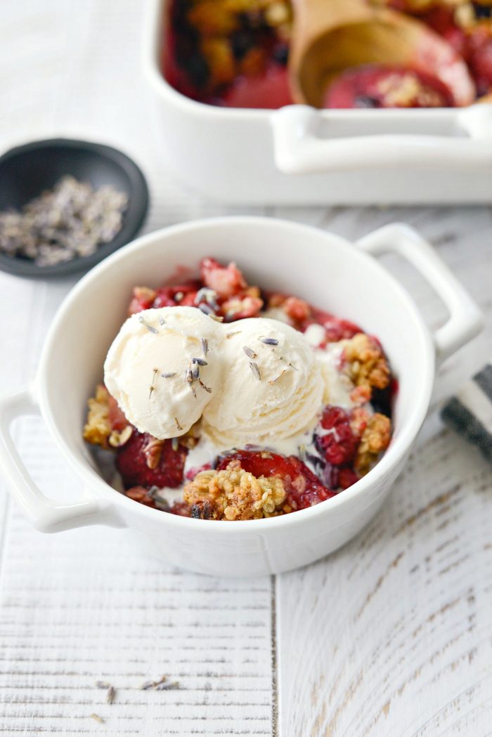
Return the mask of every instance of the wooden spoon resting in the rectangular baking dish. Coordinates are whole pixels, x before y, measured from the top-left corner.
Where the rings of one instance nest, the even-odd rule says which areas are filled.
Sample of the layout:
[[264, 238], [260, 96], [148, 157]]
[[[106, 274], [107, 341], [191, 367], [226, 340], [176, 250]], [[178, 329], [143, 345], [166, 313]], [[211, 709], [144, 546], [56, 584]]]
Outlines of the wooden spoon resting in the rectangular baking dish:
[[465, 62], [415, 18], [364, 0], [294, 0], [289, 76], [295, 102], [321, 108], [325, 91], [345, 69], [383, 63], [431, 74], [469, 105], [475, 87]]

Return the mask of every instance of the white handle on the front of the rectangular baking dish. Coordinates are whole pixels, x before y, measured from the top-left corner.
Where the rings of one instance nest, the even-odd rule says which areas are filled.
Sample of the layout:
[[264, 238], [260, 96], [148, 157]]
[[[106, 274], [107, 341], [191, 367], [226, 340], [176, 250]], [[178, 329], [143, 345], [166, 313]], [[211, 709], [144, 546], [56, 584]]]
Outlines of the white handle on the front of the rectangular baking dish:
[[[405, 166], [456, 171], [492, 165], [492, 105], [457, 110], [455, 136], [375, 133], [326, 138], [319, 135], [323, 113], [308, 105], [288, 105], [272, 113], [274, 158], [280, 172], [319, 174]], [[373, 116], [373, 127], [377, 120]]]

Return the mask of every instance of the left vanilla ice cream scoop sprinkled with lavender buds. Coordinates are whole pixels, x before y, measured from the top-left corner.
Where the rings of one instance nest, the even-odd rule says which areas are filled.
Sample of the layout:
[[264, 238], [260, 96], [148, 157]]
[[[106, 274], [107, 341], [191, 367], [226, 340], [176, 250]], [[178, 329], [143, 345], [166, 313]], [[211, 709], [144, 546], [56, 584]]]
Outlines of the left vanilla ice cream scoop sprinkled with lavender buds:
[[221, 325], [195, 307], [132, 315], [104, 364], [104, 383], [125, 417], [158, 439], [183, 435], [221, 385]]

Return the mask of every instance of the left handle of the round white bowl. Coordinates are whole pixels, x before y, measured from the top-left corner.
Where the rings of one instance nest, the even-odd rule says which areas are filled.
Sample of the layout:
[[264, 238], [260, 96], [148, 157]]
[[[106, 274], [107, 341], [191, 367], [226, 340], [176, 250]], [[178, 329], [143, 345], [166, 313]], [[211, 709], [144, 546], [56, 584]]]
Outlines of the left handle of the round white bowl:
[[32, 389], [0, 397], [0, 468], [10, 492], [32, 525], [41, 532], [58, 532], [84, 525], [122, 527], [122, 521], [108, 506], [94, 499], [87, 490], [77, 502], [63, 504], [49, 499], [38, 489], [10, 435], [15, 418], [34, 414], [40, 411]]

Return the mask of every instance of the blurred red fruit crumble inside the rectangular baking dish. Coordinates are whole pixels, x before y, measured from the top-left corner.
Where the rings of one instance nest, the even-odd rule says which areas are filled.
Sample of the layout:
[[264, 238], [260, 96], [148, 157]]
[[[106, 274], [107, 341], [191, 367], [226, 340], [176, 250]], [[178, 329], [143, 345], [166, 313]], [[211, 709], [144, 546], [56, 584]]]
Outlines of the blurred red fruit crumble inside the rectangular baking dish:
[[[323, 1], [323, 0], [321, 0]], [[325, 1], [326, 13], [330, 2]], [[361, 0], [389, 7], [432, 29], [468, 66], [477, 97], [492, 88], [490, 0]], [[174, 0], [166, 19], [162, 71], [187, 97], [232, 108], [291, 105], [288, 55], [295, 14], [290, 0]], [[423, 69], [385, 63], [345, 69], [331, 81], [325, 108], [440, 108], [451, 89]]]

